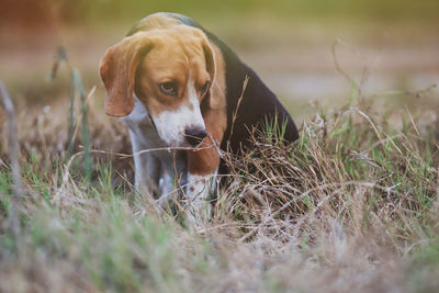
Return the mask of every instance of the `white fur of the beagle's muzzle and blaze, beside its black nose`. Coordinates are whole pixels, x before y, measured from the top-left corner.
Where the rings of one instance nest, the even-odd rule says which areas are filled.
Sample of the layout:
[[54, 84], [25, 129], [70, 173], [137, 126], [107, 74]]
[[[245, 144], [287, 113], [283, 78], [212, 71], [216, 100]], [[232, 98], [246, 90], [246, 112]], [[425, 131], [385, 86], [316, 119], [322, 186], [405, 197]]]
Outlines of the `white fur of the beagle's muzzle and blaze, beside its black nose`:
[[175, 111], [164, 111], [154, 116], [158, 135], [168, 145], [190, 146], [184, 138], [184, 131], [190, 128], [204, 129], [204, 120], [200, 110], [200, 102], [193, 82], [189, 82], [189, 101]]

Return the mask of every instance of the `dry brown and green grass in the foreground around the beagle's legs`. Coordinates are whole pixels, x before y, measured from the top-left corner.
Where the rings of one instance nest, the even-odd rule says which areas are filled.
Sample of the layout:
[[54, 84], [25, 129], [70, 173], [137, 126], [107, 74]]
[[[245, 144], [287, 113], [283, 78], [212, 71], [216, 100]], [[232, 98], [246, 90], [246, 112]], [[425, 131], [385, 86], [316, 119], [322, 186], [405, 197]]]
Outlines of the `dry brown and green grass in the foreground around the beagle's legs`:
[[[294, 145], [268, 132], [246, 156], [224, 154], [229, 187], [199, 230], [133, 194], [131, 158], [92, 154], [86, 178], [82, 156], [66, 151], [67, 102], [19, 106], [25, 195], [15, 234], [0, 128], [0, 291], [437, 290], [438, 97], [392, 94], [316, 106]], [[395, 97], [409, 106], [386, 105]], [[90, 102], [92, 148], [130, 154], [125, 127], [101, 109]]]

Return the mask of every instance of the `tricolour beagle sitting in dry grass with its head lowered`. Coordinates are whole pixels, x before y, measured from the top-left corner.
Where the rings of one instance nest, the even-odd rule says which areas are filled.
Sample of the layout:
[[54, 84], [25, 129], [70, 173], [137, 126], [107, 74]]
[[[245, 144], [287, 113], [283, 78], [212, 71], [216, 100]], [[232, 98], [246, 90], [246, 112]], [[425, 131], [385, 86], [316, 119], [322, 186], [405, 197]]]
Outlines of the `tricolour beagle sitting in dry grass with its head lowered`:
[[254, 70], [181, 14], [143, 19], [106, 50], [100, 75], [105, 113], [123, 117], [130, 131], [136, 188], [161, 203], [182, 191], [196, 223], [209, 218], [215, 177], [226, 172], [219, 169], [221, 149], [236, 154], [249, 147], [249, 129], [275, 116], [284, 122], [286, 142], [299, 137]]

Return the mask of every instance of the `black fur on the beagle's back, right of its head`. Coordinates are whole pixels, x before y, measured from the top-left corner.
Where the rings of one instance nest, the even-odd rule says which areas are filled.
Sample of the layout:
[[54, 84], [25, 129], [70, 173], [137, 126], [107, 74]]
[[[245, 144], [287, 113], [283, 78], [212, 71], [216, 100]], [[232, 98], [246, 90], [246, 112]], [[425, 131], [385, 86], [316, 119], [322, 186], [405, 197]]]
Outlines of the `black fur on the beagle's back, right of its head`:
[[[273, 123], [274, 119], [278, 119], [279, 127], [285, 123], [284, 143], [296, 140], [299, 138], [297, 128], [275, 94], [226, 44], [214, 34], [204, 32], [222, 50], [226, 65], [227, 129], [222, 148], [225, 149], [226, 146], [229, 146], [229, 150], [237, 153], [240, 147], [249, 146], [249, 131], [254, 127], [263, 131], [266, 123]], [[248, 83], [241, 97], [246, 78], [248, 78]], [[236, 121], [233, 121], [234, 116], [236, 116]]]

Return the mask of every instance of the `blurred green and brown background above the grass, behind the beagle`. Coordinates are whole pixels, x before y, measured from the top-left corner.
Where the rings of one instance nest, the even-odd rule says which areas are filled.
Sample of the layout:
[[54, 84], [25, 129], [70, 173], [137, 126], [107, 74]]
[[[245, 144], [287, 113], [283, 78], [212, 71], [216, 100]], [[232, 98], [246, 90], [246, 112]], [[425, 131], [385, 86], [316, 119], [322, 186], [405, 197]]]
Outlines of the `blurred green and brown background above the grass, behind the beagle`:
[[352, 81], [364, 95], [390, 93], [389, 102], [408, 104], [417, 101], [398, 91], [439, 82], [438, 0], [0, 0], [0, 78], [19, 105], [65, 103], [68, 75], [47, 79], [65, 45], [86, 91], [98, 86], [102, 103], [105, 49], [158, 11], [187, 14], [215, 33], [296, 120], [315, 101], [347, 103]]

